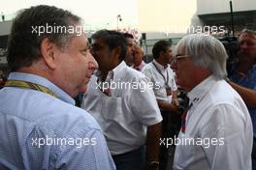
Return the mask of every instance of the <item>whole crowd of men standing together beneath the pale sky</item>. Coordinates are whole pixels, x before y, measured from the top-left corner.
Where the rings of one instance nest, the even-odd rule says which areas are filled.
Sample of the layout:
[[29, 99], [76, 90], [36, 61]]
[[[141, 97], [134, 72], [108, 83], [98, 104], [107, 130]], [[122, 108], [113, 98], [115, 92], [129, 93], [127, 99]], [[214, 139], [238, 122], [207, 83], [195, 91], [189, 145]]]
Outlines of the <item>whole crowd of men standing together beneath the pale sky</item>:
[[228, 75], [224, 45], [207, 34], [175, 49], [158, 41], [145, 64], [128, 33], [99, 30], [91, 43], [81, 30], [33, 34], [45, 25], [82, 29], [78, 15], [53, 6], [16, 15], [0, 169], [256, 169], [255, 31], [241, 31]]

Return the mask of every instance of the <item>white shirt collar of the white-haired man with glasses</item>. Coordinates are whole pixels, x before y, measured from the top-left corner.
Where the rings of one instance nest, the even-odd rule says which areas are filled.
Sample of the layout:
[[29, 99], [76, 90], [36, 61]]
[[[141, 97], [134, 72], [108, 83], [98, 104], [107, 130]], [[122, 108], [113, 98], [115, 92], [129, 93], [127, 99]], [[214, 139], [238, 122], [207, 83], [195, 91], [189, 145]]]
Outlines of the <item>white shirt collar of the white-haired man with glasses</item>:
[[210, 88], [217, 82], [217, 79], [210, 75], [208, 78], [203, 80], [200, 84], [194, 87], [188, 94], [189, 103], [192, 103], [193, 106], [196, 102], [203, 99], [209, 92]]

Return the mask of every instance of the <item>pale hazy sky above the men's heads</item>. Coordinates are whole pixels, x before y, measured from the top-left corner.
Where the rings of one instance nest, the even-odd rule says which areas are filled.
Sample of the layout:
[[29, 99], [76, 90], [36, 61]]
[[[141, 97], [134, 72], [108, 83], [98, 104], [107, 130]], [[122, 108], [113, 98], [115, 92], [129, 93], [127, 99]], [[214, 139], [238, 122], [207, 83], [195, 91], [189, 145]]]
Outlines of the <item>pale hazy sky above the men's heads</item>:
[[4, 14], [40, 4], [54, 5], [80, 15], [85, 27], [92, 30], [118, 27], [170, 32], [189, 25], [196, 12], [196, 0], [0, 0], [0, 4]]

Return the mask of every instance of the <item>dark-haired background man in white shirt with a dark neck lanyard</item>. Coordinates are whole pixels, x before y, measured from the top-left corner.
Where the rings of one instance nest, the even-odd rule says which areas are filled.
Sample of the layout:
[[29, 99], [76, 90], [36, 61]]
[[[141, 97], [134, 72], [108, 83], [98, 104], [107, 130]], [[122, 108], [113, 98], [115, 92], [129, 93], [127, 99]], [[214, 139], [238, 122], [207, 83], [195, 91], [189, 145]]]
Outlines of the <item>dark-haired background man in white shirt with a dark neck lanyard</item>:
[[[162, 139], [174, 138], [180, 128], [175, 72], [169, 64], [172, 58], [171, 47], [171, 42], [156, 42], [152, 48], [154, 60], [144, 66], [142, 71], [154, 84], [154, 94], [163, 117]], [[170, 146], [168, 149], [165, 145], [161, 145], [160, 169], [166, 169], [169, 155], [174, 157], [174, 152], [175, 146]]]

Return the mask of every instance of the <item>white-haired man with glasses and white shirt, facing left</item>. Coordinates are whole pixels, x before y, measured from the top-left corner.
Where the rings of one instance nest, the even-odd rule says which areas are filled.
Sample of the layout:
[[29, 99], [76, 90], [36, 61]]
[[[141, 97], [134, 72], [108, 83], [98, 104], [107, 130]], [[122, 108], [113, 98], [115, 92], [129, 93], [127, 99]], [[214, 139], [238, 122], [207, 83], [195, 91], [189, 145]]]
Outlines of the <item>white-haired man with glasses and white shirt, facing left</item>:
[[176, 45], [171, 66], [190, 99], [176, 139], [176, 170], [251, 169], [251, 119], [224, 80], [226, 59], [222, 43], [208, 35], [188, 35]]

